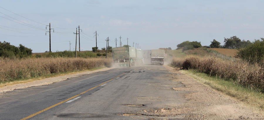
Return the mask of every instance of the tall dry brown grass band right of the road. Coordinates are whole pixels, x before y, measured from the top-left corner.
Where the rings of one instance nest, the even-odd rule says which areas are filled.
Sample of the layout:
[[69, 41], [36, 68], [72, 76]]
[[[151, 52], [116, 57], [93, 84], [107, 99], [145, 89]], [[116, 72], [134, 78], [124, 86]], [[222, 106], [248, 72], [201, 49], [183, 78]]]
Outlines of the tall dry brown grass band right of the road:
[[264, 92], [264, 66], [243, 61], [224, 61], [214, 57], [187, 57], [174, 59], [174, 67], [196, 69], [198, 72], [214, 75], [222, 79], [233, 79], [235, 84]]

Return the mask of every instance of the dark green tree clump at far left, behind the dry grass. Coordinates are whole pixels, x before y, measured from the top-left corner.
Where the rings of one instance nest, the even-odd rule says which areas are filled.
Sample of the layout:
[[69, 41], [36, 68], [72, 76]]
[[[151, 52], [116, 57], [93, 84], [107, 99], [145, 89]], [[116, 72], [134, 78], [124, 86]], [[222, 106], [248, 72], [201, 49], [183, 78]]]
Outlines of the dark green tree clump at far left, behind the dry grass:
[[32, 55], [32, 50], [19, 44], [18, 47], [10, 45], [9, 42], [0, 41], [0, 57], [3, 58], [25, 58]]

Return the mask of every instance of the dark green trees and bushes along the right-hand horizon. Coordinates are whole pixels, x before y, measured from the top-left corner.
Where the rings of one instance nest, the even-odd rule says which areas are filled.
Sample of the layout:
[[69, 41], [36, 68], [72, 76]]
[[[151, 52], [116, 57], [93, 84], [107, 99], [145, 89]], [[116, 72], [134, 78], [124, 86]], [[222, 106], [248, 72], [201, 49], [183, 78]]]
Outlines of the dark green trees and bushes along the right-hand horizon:
[[[249, 40], [241, 40], [237, 36], [232, 36], [230, 38], [224, 38], [224, 45], [221, 46], [221, 43], [215, 39], [211, 41], [209, 46], [203, 46], [206, 48], [229, 48], [229, 49], [238, 49], [236, 58], [241, 58], [250, 63], [261, 63], [264, 64], [264, 38], [255, 39], [251, 42]], [[197, 41], [184, 41], [181, 44], [177, 45], [178, 48], [183, 50], [189, 50], [193, 48], [202, 47], [201, 42]]]

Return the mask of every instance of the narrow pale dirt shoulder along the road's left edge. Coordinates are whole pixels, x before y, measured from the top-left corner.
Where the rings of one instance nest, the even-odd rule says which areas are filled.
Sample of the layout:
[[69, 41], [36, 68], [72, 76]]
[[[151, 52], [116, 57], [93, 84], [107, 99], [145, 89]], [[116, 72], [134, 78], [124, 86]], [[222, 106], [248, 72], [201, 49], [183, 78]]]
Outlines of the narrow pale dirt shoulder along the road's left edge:
[[113, 68], [102, 68], [102, 69], [97, 69], [97, 70], [93, 70], [93, 71], [78, 72], [78, 73], [74, 73], [74, 74], [70, 73], [70, 74], [66, 74], [66, 75], [62, 75], [62, 76], [50, 77], [50, 78], [45, 78], [45, 79], [40, 79], [40, 80], [29, 79], [29, 80], [21, 81], [23, 83], [19, 83], [19, 81], [18, 81], [18, 84], [14, 83], [11, 85], [6, 85], [4, 87], [1, 87], [0, 93], [7, 92], [7, 91], [13, 91], [15, 89], [28, 88], [28, 87], [32, 87], [32, 86], [48, 85], [48, 84], [52, 84], [55, 82], [65, 81], [71, 77], [80, 76], [83, 74], [91, 74], [91, 73], [106, 71], [109, 69], [113, 69]]

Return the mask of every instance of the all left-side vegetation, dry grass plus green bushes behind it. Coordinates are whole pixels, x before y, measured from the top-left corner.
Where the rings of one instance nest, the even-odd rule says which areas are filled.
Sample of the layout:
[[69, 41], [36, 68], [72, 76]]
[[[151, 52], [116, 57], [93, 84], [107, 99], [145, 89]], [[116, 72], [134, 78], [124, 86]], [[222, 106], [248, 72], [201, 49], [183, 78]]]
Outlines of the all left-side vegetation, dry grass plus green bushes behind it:
[[[108, 57], [111, 58], [111, 46]], [[84, 70], [111, 67], [112, 59], [106, 59], [106, 48], [93, 51], [57, 51], [32, 53], [23, 45], [18, 47], [9, 42], [0, 41], [0, 84], [10, 81], [26, 80], [53, 74], [78, 72]]]

